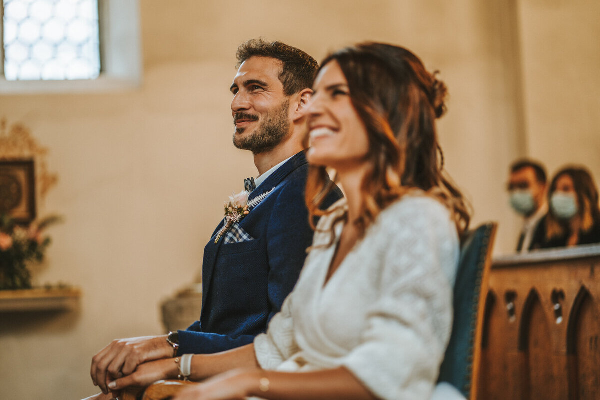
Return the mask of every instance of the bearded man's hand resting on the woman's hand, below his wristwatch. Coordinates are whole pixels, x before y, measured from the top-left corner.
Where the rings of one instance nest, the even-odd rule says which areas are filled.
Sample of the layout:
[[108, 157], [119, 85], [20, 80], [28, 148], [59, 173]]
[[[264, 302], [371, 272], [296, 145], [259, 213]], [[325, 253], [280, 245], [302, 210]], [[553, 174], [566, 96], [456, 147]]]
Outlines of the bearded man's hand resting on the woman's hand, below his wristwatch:
[[130, 375], [142, 363], [170, 357], [173, 347], [167, 335], [117, 339], [92, 358], [92, 381], [107, 395], [109, 381]]

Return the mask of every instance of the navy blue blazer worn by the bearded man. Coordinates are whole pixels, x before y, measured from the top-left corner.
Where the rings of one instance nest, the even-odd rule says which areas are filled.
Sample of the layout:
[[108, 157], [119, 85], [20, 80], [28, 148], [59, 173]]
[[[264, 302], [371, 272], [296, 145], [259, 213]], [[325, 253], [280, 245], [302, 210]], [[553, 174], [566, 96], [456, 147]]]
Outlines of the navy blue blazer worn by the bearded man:
[[[299, 152], [272, 173], [248, 201], [271, 191], [238, 227], [250, 240], [215, 243], [204, 249], [202, 315], [179, 331], [179, 354], [210, 354], [254, 341], [266, 332], [292, 291], [313, 242], [304, 200], [308, 164]], [[335, 188], [324, 207], [341, 199]], [[244, 235], [245, 236], [245, 235]]]

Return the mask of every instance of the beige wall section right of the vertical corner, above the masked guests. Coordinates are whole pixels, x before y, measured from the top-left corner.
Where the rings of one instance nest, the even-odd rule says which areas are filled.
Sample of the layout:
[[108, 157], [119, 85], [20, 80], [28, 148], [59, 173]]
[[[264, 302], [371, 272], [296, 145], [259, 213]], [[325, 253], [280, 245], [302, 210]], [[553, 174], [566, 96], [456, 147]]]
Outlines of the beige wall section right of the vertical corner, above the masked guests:
[[600, 182], [600, 2], [523, 0], [519, 13], [527, 151]]

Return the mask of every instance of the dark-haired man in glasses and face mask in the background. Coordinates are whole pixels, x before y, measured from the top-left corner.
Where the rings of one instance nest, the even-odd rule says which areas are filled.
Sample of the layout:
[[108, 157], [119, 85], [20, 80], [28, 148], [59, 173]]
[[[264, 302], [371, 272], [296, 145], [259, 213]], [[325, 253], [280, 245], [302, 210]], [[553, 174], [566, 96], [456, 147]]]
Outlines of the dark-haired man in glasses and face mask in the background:
[[541, 164], [531, 160], [512, 164], [508, 181], [511, 207], [524, 217], [517, 252], [540, 248], [544, 240], [544, 227], [540, 222], [548, 212], [546, 183], [546, 171]]

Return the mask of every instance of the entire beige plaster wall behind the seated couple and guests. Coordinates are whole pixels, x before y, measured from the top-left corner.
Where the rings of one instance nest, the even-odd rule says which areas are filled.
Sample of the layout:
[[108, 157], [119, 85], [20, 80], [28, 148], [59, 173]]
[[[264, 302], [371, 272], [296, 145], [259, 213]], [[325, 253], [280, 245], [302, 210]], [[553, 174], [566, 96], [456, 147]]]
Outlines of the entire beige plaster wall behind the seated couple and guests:
[[[139, 89], [0, 94], [0, 115], [31, 128], [60, 176], [44, 210], [62, 213], [65, 223], [52, 228], [54, 243], [35, 282], [64, 281], [83, 291], [77, 312], [0, 314], [0, 398], [89, 396], [93, 354], [115, 338], [162, 333], [158, 303], [196, 278], [222, 202], [255, 175], [251, 156], [231, 145], [229, 108], [235, 50], [249, 38], [281, 40], [317, 59], [356, 41], [388, 41], [442, 71], [451, 93], [440, 121], [446, 166], [472, 200], [473, 223], [500, 221], [497, 248], [511, 251], [518, 219], [504, 190], [510, 161], [532, 154], [550, 164], [550, 130], [565, 161], [586, 151], [598, 163], [592, 146], [580, 144], [598, 149], [597, 96], [577, 86], [548, 113], [544, 85], [552, 82], [554, 94], [584, 76], [598, 88], [592, 68], [600, 33], [592, 14], [600, 6], [545, 4], [142, 0]], [[560, 33], [569, 29], [585, 35]], [[554, 41], [594, 56], [562, 61], [548, 46]], [[580, 54], [575, 49], [565, 51]], [[555, 64], [572, 69], [548, 69]], [[586, 109], [578, 95], [588, 99]], [[535, 98], [546, 103], [534, 107]], [[557, 125], [571, 128], [568, 140]]]

